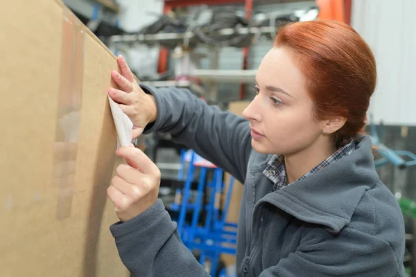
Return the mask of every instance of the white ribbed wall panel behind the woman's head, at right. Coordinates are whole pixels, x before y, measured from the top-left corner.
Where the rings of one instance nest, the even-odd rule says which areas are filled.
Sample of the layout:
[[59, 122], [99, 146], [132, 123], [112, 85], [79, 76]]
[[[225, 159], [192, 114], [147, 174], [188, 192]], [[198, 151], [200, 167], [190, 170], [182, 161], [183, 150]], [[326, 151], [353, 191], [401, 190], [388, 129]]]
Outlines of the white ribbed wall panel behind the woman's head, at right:
[[370, 44], [378, 82], [370, 113], [378, 123], [416, 125], [415, 0], [353, 0], [352, 27]]

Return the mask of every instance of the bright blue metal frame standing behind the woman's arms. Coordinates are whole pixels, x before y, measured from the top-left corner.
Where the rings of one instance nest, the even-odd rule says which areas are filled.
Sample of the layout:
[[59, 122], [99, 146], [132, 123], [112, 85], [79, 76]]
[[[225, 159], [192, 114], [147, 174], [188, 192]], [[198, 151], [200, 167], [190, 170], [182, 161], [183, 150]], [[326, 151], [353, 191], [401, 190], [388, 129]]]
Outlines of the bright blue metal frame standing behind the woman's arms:
[[[177, 189], [176, 193], [182, 193], [182, 202], [180, 205], [172, 204], [173, 210], [179, 210], [177, 219], [177, 231], [185, 246], [191, 251], [198, 250], [200, 252], [199, 262], [204, 264], [208, 258], [211, 260], [211, 276], [215, 276], [220, 255], [222, 253], [236, 254], [236, 223], [226, 222], [227, 210], [231, 200], [232, 188], [234, 186], [234, 177], [229, 180], [229, 188], [225, 197], [225, 204], [222, 216], [220, 217], [220, 197], [223, 193], [223, 170], [220, 168], [210, 168], [206, 166], [199, 166], [200, 157], [191, 151], [191, 159], [186, 161], [185, 152], [181, 152], [181, 167], [178, 172], [178, 180], [183, 180], [184, 168], [188, 166], [187, 178], [183, 190]], [[198, 188], [195, 202], [189, 203], [189, 196], [191, 184], [193, 181], [193, 174], [196, 168], [200, 169], [200, 176], [198, 180]], [[213, 172], [213, 179], [207, 181], [207, 173], [211, 170]], [[209, 190], [209, 202], [204, 206], [202, 197], [205, 193], [205, 188]], [[192, 220], [190, 224], [186, 224], [185, 217], [187, 211], [193, 210]], [[198, 226], [200, 221], [200, 213], [205, 210], [207, 213], [205, 224]], [[224, 245], [226, 244], [226, 245]]]

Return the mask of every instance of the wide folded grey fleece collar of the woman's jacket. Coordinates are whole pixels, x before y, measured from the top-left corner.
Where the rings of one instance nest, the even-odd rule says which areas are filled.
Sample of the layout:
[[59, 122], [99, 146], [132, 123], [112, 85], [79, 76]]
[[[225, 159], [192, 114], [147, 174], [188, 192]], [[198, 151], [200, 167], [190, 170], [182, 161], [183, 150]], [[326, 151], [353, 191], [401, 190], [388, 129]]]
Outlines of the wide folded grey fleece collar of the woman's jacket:
[[365, 191], [379, 180], [370, 137], [358, 140], [356, 150], [348, 156], [291, 186], [268, 193], [256, 206], [268, 202], [304, 222], [321, 224], [338, 233], [351, 222]]

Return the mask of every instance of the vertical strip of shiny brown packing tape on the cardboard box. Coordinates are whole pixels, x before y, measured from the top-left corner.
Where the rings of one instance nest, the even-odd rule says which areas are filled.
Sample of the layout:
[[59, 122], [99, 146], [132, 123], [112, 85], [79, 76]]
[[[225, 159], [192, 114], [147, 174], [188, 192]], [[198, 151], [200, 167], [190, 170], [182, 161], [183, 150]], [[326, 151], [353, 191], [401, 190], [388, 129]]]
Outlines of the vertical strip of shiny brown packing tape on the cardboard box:
[[57, 220], [71, 215], [83, 93], [85, 26], [64, 8], [60, 90], [53, 159], [53, 185], [58, 187]]

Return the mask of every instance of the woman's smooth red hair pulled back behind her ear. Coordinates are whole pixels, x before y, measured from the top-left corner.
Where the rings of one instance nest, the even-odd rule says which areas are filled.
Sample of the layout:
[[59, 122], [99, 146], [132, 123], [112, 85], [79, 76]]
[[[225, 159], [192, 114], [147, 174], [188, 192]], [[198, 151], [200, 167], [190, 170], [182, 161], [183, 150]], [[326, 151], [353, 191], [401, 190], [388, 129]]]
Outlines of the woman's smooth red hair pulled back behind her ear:
[[376, 61], [356, 31], [340, 21], [305, 21], [279, 29], [276, 47], [288, 48], [306, 79], [316, 118], [342, 116], [337, 147], [363, 131], [376, 87]]

